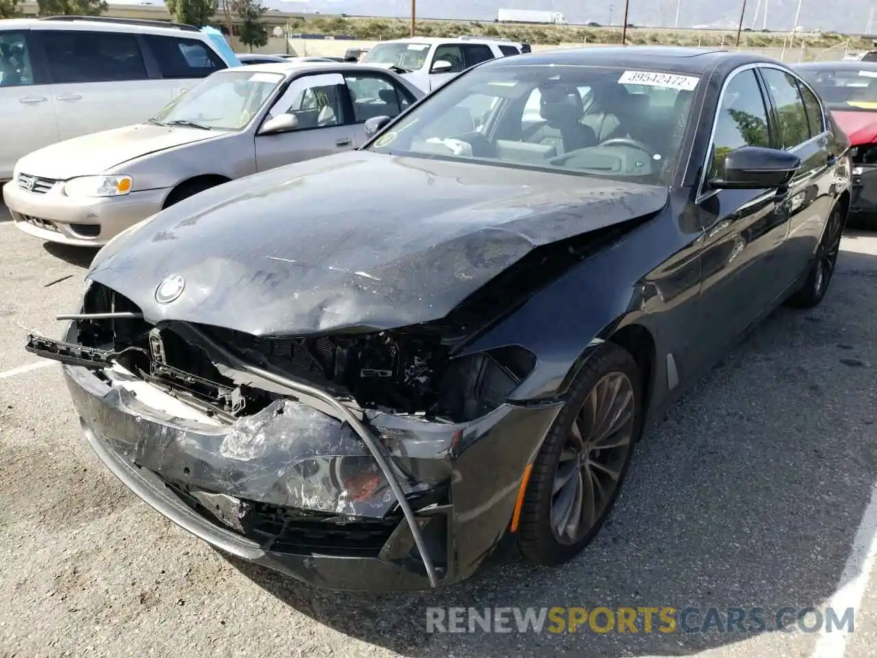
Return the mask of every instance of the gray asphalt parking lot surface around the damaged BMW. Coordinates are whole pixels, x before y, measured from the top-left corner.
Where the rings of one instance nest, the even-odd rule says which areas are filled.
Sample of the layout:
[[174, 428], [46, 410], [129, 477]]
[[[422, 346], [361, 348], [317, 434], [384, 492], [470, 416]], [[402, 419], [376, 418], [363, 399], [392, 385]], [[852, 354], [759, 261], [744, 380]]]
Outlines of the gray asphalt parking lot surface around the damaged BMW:
[[[313, 590], [231, 561], [139, 502], [91, 453], [56, 334], [90, 254], [0, 218], [0, 656], [809, 656], [810, 633], [427, 634], [427, 605], [824, 604], [877, 479], [877, 235], [845, 238], [815, 311], [768, 318], [638, 447], [598, 539], [564, 569], [512, 564], [439, 593]], [[873, 580], [873, 578], [872, 578]], [[877, 588], [851, 658], [877, 653]], [[839, 658], [833, 656], [832, 658]]]

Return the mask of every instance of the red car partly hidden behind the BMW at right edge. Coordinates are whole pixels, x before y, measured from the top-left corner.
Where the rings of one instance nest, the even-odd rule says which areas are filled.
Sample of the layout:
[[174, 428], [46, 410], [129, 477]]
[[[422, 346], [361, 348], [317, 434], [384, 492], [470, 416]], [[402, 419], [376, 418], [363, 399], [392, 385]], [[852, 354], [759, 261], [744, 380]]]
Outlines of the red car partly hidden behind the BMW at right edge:
[[877, 227], [877, 61], [813, 61], [794, 68], [850, 138], [849, 223]]

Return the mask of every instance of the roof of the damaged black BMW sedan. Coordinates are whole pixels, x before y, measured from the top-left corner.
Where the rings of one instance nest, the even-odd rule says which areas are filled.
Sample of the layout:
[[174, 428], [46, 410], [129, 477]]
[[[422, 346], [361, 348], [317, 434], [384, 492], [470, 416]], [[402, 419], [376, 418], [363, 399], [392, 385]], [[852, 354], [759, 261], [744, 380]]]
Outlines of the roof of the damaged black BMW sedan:
[[738, 53], [717, 48], [686, 46], [605, 46], [564, 48], [500, 58], [486, 62], [491, 66], [528, 66], [560, 64], [567, 66], [611, 66], [663, 70], [681, 74], [705, 74], [714, 68], [731, 70], [756, 62], [781, 64], [769, 57]]

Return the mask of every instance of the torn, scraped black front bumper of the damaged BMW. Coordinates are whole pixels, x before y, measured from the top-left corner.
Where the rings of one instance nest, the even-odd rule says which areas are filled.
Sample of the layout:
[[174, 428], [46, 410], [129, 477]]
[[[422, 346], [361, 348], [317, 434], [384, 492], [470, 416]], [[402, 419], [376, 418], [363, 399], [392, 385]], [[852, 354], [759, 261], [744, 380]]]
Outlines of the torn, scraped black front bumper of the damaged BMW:
[[[225, 426], [121, 368], [68, 364], [63, 372], [92, 447], [153, 508], [225, 552], [343, 590], [434, 588], [486, 565], [508, 532], [524, 467], [560, 409], [506, 404], [465, 425], [379, 412], [349, 422], [288, 399]], [[379, 473], [381, 486], [332, 476], [357, 469]], [[222, 513], [203, 513], [204, 494], [361, 522], [370, 537], [382, 525], [386, 539], [370, 553], [253, 540]], [[347, 544], [355, 543], [361, 535], [348, 528]]]

